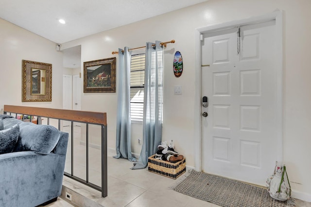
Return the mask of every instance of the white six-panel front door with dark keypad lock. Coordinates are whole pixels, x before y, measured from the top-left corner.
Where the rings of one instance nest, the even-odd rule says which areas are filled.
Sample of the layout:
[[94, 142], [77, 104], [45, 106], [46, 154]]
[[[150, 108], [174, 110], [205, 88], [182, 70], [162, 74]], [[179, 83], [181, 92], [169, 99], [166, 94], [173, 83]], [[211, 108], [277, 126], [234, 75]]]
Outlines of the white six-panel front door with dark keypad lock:
[[203, 171], [264, 185], [282, 147], [276, 138], [276, 26], [240, 28], [240, 41], [238, 28], [203, 34]]

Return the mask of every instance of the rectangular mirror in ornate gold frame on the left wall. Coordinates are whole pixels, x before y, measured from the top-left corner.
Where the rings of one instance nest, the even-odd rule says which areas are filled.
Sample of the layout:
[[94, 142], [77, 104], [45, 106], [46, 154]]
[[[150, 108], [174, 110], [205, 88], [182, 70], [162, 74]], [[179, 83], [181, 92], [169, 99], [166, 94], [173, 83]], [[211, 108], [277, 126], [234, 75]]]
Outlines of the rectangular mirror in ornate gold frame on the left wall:
[[22, 102], [52, 102], [52, 64], [22, 61]]

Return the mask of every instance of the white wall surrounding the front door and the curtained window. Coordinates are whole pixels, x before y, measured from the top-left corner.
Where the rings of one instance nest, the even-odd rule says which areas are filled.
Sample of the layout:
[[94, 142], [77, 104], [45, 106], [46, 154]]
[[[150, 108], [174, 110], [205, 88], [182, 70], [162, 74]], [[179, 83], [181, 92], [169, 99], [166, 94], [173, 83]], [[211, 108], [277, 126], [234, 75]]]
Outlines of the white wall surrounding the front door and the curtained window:
[[[164, 57], [163, 140], [173, 139], [175, 149], [186, 156], [187, 165], [194, 166], [194, 154], [198, 150], [194, 149], [194, 120], [200, 116], [194, 114], [196, 28], [261, 16], [276, 9], [284, 11], [284, 162], [293, 190], [296, 194], [302, 192], [299, 196], [311, 201], [310, 0], [209, 0], [71, 41], [62, 47], [66, 49], [81, 44], [83, 63], [113, 57], [115, 55], [111, 52], [119, 47], [136, 48], [144, 46], [146, 41], [175, 39], [175, 44], [168, 44]], [[172, 69], [176, 51], [181, 52], [184, 63], [184, 71], [179, 78], [174, 77]], [[182, 86], [182, 95], [173, 95], [174, 86]], [[82, 95], [83, 110], [107, 112], [109, 148], [115, 147], [117, 93]], [[133, 149], [139, 148], [137, 140], [133, 145]]]

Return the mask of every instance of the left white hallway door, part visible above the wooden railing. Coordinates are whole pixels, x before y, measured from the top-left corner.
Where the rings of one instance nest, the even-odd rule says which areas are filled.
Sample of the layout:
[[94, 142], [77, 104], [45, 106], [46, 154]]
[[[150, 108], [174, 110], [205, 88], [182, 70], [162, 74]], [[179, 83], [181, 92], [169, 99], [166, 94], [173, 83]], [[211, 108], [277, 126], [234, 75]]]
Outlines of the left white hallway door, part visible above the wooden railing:
[[72, 109], [72, 75], [63, 75], [63, 109]]

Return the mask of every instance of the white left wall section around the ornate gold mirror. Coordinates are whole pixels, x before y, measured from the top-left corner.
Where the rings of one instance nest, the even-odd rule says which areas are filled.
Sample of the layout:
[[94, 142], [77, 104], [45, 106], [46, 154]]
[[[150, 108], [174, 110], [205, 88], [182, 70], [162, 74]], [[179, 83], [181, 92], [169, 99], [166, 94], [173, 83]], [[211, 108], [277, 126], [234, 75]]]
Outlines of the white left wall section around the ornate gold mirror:
[[[62, 108], [63, 55], [55, 46], [0, 18], [0, 108], [4, 104]], [[21, 102], [22, 60], [52, 64], [52, 102]]]

